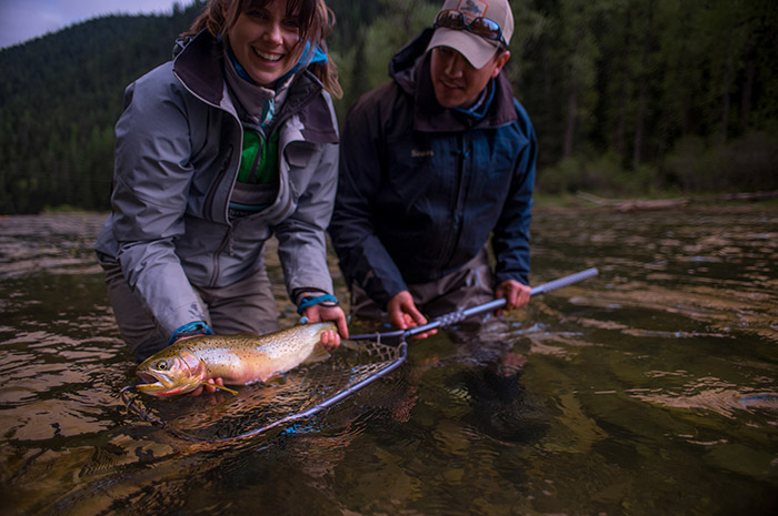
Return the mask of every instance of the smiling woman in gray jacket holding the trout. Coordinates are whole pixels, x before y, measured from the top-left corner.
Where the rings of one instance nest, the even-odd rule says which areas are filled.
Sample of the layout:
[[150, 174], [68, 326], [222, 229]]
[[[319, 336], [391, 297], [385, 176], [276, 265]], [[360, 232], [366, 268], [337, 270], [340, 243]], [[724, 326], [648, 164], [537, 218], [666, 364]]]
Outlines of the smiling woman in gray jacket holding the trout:
[[210, 0], [172, 61], [130, 84], [117, 123], [112, 213], [96, 250], [137, 361], [203, 334], [278, 328], [262, 260], [310, 322], [335, 321], [325, 230], [341, 93], [323, 0]]

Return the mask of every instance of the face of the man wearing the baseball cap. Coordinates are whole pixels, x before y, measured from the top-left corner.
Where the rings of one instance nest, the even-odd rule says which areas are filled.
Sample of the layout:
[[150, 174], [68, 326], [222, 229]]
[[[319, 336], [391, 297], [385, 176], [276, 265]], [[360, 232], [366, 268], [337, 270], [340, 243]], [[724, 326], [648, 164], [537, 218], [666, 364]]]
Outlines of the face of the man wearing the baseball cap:
[[431, 52], [430, 78], [435, 97], [440, 105], [449, 109], [472, 105], [489, 80], [496, 78], [510, 59], [510, 52], [505, 51], [477, 69], [449, 47], [436, 47]]

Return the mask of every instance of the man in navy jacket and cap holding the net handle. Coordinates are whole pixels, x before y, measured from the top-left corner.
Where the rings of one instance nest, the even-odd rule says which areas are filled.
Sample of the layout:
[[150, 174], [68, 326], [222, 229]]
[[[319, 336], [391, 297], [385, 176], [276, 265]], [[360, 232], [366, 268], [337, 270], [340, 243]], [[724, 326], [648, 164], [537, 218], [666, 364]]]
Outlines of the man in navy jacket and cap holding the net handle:
[[529, 302], [537, 142], [503, 71], [512, 32], [507, 0], [447, 0], [349, 112], [329, 231], [355, 315], [406, 330]]

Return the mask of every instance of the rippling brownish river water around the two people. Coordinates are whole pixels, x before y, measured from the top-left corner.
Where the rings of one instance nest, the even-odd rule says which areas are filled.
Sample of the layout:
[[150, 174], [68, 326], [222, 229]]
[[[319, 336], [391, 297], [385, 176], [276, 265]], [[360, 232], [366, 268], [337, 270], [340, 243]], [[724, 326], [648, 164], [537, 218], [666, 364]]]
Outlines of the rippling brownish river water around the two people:
[[[533, 284], [599, 276], [476, 337], [413, 341], [305, 424], [221, 445], [122, 403], [134, 364], [91, 252], [102, 219], [0, 220], [3, 515], [778, 514], [775, 206], [540, 211]], [[191, 399], [166, 403], [229, 412]]]

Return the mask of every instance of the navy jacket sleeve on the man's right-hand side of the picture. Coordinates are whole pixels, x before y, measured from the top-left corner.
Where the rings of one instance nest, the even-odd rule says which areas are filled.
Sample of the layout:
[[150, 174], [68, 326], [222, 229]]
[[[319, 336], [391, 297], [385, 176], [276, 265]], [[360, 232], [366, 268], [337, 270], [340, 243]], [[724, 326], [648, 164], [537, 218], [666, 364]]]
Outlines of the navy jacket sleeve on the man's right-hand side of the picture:
[[526, 136], [513, 164], [510, 194], [502, 208], [492, 234], [492, 250], [497, 259], [495, 279], [499, 285], [506, 280], [516, 280], [529, 285], [529, 225], [531, 222], [532, 190], [538, 142], [532, 123], [523, 107], [515, 100], [519, 117], [519, 130]]

